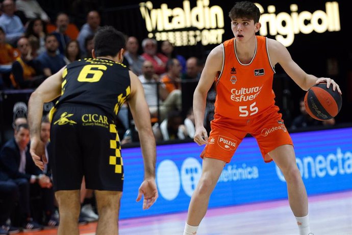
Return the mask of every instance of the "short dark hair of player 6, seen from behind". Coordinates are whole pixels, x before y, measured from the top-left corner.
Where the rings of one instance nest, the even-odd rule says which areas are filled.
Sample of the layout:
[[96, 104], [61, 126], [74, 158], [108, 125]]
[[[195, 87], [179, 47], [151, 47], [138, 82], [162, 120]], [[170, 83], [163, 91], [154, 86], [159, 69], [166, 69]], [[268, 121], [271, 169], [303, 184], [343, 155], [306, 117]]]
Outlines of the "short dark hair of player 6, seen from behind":
[[113, 56], [124, 49], [125, 37], [112, 26], [104, 26], [98, 29], [94, 36], [95, 56]]

